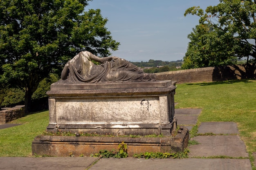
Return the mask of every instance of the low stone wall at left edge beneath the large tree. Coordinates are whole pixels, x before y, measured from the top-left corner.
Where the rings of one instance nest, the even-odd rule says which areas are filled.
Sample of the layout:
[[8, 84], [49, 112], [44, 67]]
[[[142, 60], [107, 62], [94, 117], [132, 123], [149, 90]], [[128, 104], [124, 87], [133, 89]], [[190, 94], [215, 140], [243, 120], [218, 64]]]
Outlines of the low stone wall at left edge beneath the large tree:
[[9, 121], [25, 116], [25, 106], [19, 105], [13, 108], [1, 108], [0, 110], [0, 124], [6, 124]]

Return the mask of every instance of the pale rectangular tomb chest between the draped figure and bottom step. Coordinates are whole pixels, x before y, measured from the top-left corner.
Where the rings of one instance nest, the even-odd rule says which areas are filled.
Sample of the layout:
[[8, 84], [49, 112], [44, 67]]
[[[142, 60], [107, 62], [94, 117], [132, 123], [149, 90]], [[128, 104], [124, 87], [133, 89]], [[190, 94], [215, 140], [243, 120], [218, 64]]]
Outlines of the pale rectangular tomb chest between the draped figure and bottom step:
[[47, 131], [171, 136], [171, 81], [52, 84]]

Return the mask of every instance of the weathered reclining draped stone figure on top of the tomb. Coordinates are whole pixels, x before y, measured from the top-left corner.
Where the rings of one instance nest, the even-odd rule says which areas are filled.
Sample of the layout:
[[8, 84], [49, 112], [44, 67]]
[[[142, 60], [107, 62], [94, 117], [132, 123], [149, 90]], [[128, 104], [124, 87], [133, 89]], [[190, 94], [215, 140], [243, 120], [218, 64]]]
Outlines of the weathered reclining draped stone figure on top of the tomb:
[[[92, 60], [101, 63], [94, 64]], [[154, 74], [145, 74], [134, 64], [119, 57], [97, 57], [88, 51], [80, 52], [68, 61], [61, 73], [63, 82], [124, 82], [154, 81]]]

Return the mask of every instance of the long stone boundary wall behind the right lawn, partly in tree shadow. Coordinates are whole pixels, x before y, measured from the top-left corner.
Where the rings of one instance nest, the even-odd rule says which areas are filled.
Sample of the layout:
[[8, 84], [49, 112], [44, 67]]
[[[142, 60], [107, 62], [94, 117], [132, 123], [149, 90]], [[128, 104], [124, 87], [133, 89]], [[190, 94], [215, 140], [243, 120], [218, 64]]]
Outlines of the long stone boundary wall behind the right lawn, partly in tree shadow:
[[[245, 64], [240, 64], [226, 67], [193, 68], [155, 74], [157, 80], [173, 80], [177, 81], [177, 83], [217, 82], [231, 79], [244, 79], [248, 77], [245, 68]], [[253, 69], [253, 66], [249, 65], [249, 68]], [[253, 75], [251, 75], [251, 77], [255, 77], [255, 71], [252, 71], [252, 73]]]

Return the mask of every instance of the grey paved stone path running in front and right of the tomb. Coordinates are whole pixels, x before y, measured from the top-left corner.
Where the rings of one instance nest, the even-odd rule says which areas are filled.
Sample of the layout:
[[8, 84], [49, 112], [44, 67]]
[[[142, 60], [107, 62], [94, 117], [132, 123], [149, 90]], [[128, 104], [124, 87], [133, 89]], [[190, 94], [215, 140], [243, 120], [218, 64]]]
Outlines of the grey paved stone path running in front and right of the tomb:
[[[200, 113], [200, 109], [175, 109], [177, 123], [189, 128]], [[198, 135], [191, 140], [199, 144], [189, 146], [189, 158], [185, 159], [0, 157], [0, 170], [252, 170], [236, 123], [202, 122]]]

